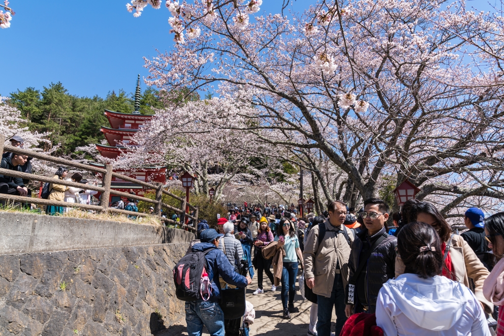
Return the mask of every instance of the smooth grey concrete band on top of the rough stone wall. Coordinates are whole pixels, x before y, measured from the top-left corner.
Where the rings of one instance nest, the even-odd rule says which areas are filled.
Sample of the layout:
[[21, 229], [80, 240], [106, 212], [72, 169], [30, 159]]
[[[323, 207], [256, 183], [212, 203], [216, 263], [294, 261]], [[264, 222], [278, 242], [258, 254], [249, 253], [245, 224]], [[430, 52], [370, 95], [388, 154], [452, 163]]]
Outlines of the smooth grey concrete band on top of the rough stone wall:
[[0, 255], [189, 242], [184, 230], [132, 223], [0, 212]]

